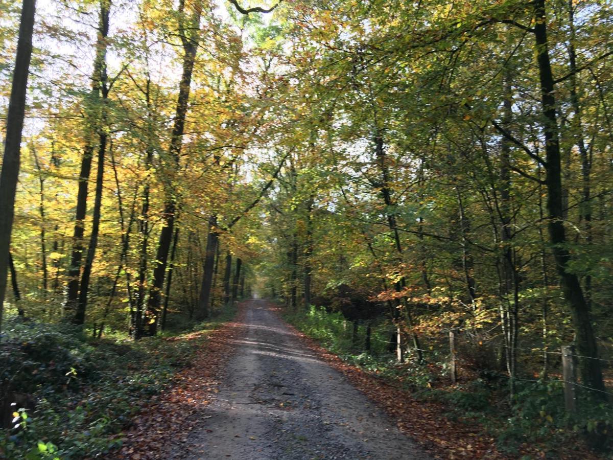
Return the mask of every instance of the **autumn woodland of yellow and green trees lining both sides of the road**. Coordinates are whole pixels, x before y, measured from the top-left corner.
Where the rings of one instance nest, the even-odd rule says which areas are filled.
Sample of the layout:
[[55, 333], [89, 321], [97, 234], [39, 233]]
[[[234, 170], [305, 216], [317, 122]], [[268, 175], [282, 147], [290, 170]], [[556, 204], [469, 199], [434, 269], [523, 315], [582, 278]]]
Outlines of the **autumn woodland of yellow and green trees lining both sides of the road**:
[[612, 31], [602, 0], [0, 0], [2, 359], [254, 293], [603, 448]]

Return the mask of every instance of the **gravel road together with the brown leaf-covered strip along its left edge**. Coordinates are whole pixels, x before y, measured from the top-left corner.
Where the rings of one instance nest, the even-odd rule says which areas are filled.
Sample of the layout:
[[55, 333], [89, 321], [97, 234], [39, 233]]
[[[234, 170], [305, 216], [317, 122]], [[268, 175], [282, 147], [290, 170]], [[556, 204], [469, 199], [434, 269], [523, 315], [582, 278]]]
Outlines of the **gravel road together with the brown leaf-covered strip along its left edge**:
[[274, 310], [245, 302], [113, 458], [433, 458]]

